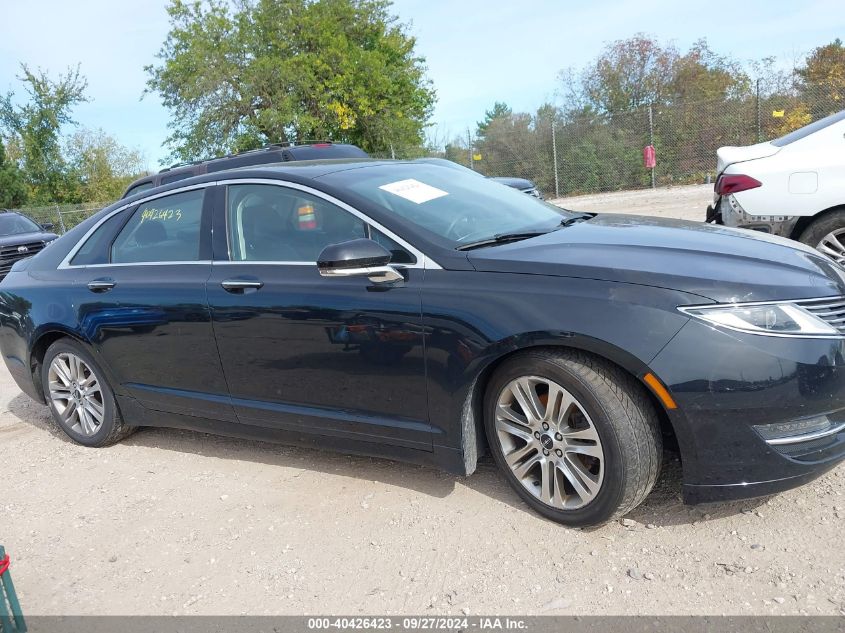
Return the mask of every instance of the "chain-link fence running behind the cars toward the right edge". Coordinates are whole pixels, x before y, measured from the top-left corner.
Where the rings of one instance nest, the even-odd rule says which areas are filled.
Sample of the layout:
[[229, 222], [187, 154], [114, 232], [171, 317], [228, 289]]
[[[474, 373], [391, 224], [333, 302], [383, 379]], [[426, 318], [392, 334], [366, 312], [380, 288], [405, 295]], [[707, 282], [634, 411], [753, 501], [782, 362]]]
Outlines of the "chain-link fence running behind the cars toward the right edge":
[[[614, 115], [563, 116], [554, 108], [536, 116], [513, 114], [494, 119], [483, 136], [468, 130], [443, 151], [425, 155], [486, 176], [527, 178], [549, 198], [703, 184], [715, 177], [719, 147], [771, 140], [845, 108], [822, 88], [768, 95], [760, 93], [759, 84], [756, 88], [733, 99], [652, 105]], [[653, 169], [644, 161], [647, 146], [655, 150]]]

